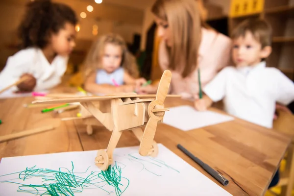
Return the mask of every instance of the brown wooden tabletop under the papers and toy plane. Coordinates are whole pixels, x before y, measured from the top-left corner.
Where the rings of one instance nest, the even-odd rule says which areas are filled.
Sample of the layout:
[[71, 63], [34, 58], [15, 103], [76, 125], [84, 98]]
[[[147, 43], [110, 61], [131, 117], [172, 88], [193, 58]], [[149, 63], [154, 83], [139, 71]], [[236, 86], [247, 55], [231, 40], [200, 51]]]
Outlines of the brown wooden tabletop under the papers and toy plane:
[[[33, 98], [0, 100], [0, 119], [3, 122], [0, 135], [56, 122], [52, 114], [41, 114], [40, 108], [23, 107], [31, 100]], [[192, 106], [193, 103], [180, 98], [167, 98], [165, 105]], [[76, 111], [68, 112], [62, 117], [73, 116], [74, 113]], [[67, 121], [52, 131], [0, 143], [0, 158], [101, 149], [107, 147], [110, 136], [111, 132], [104, 127], [94, 127], [93, 135], [89, 136], [80, 120]], [[176, 145], [186, 147], [230, 181], [227, 187], [222, 187], [233, 196], [264, 195], [291, 142], [286, 136], [240, 119], [186, 132], [159, 124], [155, 140], [219, 184]], [[138, 145], [135, 136], [130, 131], [124, 131], [117, 147]]]

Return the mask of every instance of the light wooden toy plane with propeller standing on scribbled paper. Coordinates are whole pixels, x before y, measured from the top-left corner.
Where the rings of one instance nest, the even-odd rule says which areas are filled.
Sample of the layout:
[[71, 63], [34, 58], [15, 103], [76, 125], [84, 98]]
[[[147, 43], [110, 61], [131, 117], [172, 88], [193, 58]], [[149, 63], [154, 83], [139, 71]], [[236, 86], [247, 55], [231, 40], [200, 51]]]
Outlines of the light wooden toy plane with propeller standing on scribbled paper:
[[[172, 73], [164, 71], [156, 95], [114, 95], [98, 97], [52, 98], [38, 99], [34, 104], [80, 102], [112, 135], [107, 150], [99, 149], [95, 163], [102, 171], [113, 163], [113, 151], [116, 148], [122, 132], [132, 130], [140, 141], [139, 154], [142, 156], [157, 156], [158, 147], [153, 140], [158, 122], [162, 122], [164, 114], [169, 111], [164, 107], [168, 95]], [[99, 101], [98, 107], [93, 102]], [[141, 129], [145, 126], [145, 130]]]

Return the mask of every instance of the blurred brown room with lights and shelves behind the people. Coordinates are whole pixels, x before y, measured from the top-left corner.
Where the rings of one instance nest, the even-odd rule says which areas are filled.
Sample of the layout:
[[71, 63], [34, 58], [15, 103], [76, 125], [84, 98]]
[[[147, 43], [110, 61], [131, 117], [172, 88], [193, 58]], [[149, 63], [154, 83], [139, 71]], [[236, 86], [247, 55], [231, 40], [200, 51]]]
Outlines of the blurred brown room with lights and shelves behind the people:
[[[30, 0], [0, 0], [0, 70], [7, 57], [19, 50], [16, 29]], [[79, 18], [77, 39], [67, 74], [78, 73], [92, 42], [108, 32], [119, 33], [136, 56], [147, 79], [161, 76], [157, 64], [156, 25], [150, 11], [154, 0], [53, 0], [70, 5]], [[294, 79], [294, 0], [203, 0], [207, 23], [230, 35], [249, 17], [265, 18], [272, 25], [273, 52], [268, 66]], [[74, 80], [76, 81], [76, 79]], [[74, 85], [74, 84], [73, 84]]]

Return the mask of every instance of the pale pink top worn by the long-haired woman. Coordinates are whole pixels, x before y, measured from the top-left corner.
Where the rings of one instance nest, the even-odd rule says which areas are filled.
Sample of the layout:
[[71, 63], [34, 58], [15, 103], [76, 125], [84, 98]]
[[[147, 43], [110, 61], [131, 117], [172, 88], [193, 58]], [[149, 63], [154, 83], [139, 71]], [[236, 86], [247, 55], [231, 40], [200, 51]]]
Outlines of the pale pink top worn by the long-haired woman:
[[[201, 88], [203, 88], [222, 68], [229, 64], [231, 39], [214, 30], [202, 28], [201, 32], [198, 67], [200, 68]], [[158, 58], [161, 69], [163, 71], [168, 69], [169, 57], [164, 41], [160, 43]], [[179, 72], [172, 71], [170, 92], [182, 95], [183, 98], [198, 98], [197, 69], [186, 78], [183, 78]]]

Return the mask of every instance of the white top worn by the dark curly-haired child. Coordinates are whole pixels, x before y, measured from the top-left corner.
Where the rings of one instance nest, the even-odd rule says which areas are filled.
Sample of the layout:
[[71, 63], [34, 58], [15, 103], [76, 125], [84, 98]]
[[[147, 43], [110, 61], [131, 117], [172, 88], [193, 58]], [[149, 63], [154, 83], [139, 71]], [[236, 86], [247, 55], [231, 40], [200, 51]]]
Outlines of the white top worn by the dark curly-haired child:
[[[66, 71], [68, 57], [56, 56], [49, 64], [41, 49], [22, 49], [8, 57], [7, 63], [0, 73], [0, 89], [18, 81], [22, 74], [30, 73], [37, 84], [34, 91], [42, 91], [57, 86]], [[15, 91], [13, 87], [8, 91]]]

